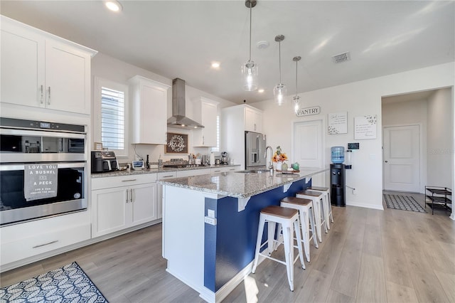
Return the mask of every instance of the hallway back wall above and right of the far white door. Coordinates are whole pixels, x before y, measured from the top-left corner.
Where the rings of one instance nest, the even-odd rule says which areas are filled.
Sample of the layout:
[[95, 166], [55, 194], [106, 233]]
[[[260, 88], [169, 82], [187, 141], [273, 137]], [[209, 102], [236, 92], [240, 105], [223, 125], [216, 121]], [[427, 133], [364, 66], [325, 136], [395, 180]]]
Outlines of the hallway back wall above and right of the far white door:
[[382, 104], [382, 129], [415, 124], [418, 124], [420, 129], [419, 191], [424, 193], [424, 186], [427, 184], [427, 100]]

